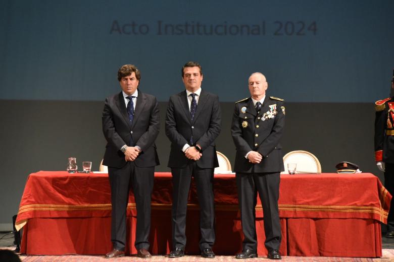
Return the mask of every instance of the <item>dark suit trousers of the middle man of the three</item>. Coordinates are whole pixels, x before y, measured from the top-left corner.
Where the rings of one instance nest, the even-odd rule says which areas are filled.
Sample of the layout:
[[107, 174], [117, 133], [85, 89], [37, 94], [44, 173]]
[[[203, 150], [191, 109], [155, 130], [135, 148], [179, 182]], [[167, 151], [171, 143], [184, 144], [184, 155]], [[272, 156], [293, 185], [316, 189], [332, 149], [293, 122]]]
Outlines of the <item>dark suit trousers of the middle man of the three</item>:
[[200, 249], [212, 247], [215, 242], [215, 207], [213, 168], [199, 168], [191, 163], [184, 168], [171, 168], [173, 184], [172, 245], [182, 250], [186, 245], [186, 209], [191, 177], [197, 188], [200, 205]]

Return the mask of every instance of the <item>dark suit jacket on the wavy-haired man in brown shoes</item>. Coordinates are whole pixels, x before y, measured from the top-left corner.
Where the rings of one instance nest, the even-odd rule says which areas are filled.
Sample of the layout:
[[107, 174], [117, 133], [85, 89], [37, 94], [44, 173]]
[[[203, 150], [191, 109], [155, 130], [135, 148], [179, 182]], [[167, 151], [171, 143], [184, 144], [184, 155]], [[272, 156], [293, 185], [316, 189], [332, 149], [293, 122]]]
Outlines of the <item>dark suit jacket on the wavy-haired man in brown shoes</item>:
[[127, 145], [132, 136], [133, 146], [137, 145], [141, 148], [141, 152], [134, 160], [135, 165], [138, 167], [159, 165], [155, 145], [159, 129], [159, 108], [154, 96], [144, 94], [138, 89], [132, 125], [122, 92], [107, 97], [103, 110], [103, 133], [108, 143], [103, 164], [116, 168], [123, 167], [126, 161], [120, 148]]

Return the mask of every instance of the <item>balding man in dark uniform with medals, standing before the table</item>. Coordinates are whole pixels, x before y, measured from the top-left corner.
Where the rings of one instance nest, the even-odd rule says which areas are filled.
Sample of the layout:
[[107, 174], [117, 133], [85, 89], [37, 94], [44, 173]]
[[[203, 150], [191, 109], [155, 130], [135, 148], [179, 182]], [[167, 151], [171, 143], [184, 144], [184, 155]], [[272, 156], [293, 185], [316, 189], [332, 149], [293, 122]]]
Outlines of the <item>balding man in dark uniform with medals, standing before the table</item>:
[[268, 83], [261, 73], [252, 74], [248, 83], [251, 97], [236, 102], [231, 124], [244, 235], [242, 252], [236, 258], [257, 257], [255, 207], [259, 192], [268, 258], [281, 259], [278, 199], [280, 172], [284, 170], [279, 144], [284, 127], [283, 99], [266, 96]]

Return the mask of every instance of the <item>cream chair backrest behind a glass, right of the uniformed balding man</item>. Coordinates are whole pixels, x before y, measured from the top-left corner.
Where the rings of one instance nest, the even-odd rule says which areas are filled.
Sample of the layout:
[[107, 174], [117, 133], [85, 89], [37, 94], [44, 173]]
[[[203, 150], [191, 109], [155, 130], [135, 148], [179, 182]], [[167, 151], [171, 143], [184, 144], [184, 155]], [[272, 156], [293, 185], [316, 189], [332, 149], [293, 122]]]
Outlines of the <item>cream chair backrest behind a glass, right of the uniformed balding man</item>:
[[297, 171], [300, 174], [321, 174], [321, 165], [317, 157], [312, 153], [303, 150], [296, 150], [288, 152], [283, 157], [284, 172], [282, 174], [288, 174], [287, 164], [296, 163]]

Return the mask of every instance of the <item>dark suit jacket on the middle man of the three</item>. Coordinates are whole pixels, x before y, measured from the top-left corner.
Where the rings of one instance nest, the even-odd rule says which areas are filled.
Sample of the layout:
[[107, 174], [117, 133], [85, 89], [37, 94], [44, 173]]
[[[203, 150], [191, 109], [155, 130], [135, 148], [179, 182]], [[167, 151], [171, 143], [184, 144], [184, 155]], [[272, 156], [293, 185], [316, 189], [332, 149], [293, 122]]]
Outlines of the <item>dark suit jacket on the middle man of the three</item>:
[[214, 141], [220, 133], [220, 111], [218, 96], [201, 90], [197, 110], [191, 121], [186, 90], [170, 97], [165, 126], [166, 135], [171, 141], [168, 167], [181, 168], [190, 163], [182, 148], [189, 144], [191, 135], [194, 143], [203, 150], [203, 156], [196, 164], [200, 168], [219, 166]]

